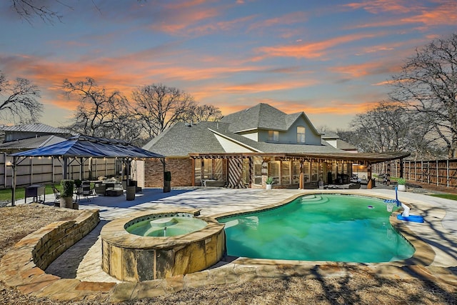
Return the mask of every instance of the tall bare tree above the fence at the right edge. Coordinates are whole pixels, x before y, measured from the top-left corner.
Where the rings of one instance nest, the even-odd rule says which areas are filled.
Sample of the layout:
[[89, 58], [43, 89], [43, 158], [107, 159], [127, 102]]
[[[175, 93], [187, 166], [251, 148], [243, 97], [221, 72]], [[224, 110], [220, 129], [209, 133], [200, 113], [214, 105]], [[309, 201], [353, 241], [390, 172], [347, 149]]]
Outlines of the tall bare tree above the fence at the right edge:
[[408, 59], [391, 82], [393, 101], [421, 114], [417, 124], [431, 124], [446, 144], [448, 158], [457, 157], [457, 34], [436, 39]]

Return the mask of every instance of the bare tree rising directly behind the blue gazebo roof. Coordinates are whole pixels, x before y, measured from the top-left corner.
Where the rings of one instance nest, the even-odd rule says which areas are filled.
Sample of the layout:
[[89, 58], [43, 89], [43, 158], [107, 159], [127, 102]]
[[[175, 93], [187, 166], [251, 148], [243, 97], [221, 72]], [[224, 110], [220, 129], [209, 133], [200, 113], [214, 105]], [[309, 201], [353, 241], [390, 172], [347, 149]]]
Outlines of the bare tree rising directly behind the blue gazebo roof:
[[81, 103], [74, 113], [74, 124], [68, 128], [104, 138], [135, 142], [141, 139], [141, 126], [134, 118], [129, 101], [119, 91], [108, 92], [90, 77], [71, 83], [64, 81], [67, 96], [78, 96]]

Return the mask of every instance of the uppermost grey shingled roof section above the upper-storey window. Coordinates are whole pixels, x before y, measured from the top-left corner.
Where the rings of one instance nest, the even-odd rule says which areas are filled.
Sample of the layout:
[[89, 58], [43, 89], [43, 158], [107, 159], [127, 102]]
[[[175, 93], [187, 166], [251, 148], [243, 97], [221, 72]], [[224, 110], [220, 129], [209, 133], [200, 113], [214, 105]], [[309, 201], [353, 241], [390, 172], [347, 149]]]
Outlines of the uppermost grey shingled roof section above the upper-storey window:
[[316, 134], [319, 134], [303, 111], [295, 114], [285, 114], [283, 111], [263, 103], [224, 116], [221, 119], [221, 122], [229, 123], [229, 129], [233, 132], [255, 129], [287, 131], [300, 116], [303, 116], [308, 123], [308, 126], [310, 126]]

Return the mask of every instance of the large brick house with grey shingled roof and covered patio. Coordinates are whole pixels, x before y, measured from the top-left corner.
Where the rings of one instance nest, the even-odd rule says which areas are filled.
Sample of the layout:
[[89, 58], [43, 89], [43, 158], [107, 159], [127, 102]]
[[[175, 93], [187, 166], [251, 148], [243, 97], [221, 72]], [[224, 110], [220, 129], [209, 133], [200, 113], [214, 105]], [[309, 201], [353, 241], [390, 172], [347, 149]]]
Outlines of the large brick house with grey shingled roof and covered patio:
[[[166, 156], [146, 161], [145, 186], [163, 186], [159, 169], [171, 171], [171, 186], [305, 188], [318, 181], [348, 183], [352, 164], [369, 165], [408, 154], [353, 154], [322, 139], [304, 112], [285, 114], [268, 104], [224, 116], [220, 121], [177, 123], [144, 149]], [[370, 177], [371, 178], [371, 177]]]

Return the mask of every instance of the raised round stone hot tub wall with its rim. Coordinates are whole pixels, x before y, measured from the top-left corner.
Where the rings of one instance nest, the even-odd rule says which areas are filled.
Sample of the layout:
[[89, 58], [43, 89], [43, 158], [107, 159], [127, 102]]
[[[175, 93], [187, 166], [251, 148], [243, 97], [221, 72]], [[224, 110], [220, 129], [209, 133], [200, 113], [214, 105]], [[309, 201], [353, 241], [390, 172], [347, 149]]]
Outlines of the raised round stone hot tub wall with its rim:
[[225, 232], [224, 224], [215, 219], [199, 217], [208, 225], [179, 236], [138, 236], [125, 229], [127, 223], [136, 219], [179, 214], [194, 216], [199, 210], [141, 212], [106, 224], [100, 233], [102, 269], [121, 281], [148, 281], [190, 274], [216, 264], [224, 255]]

